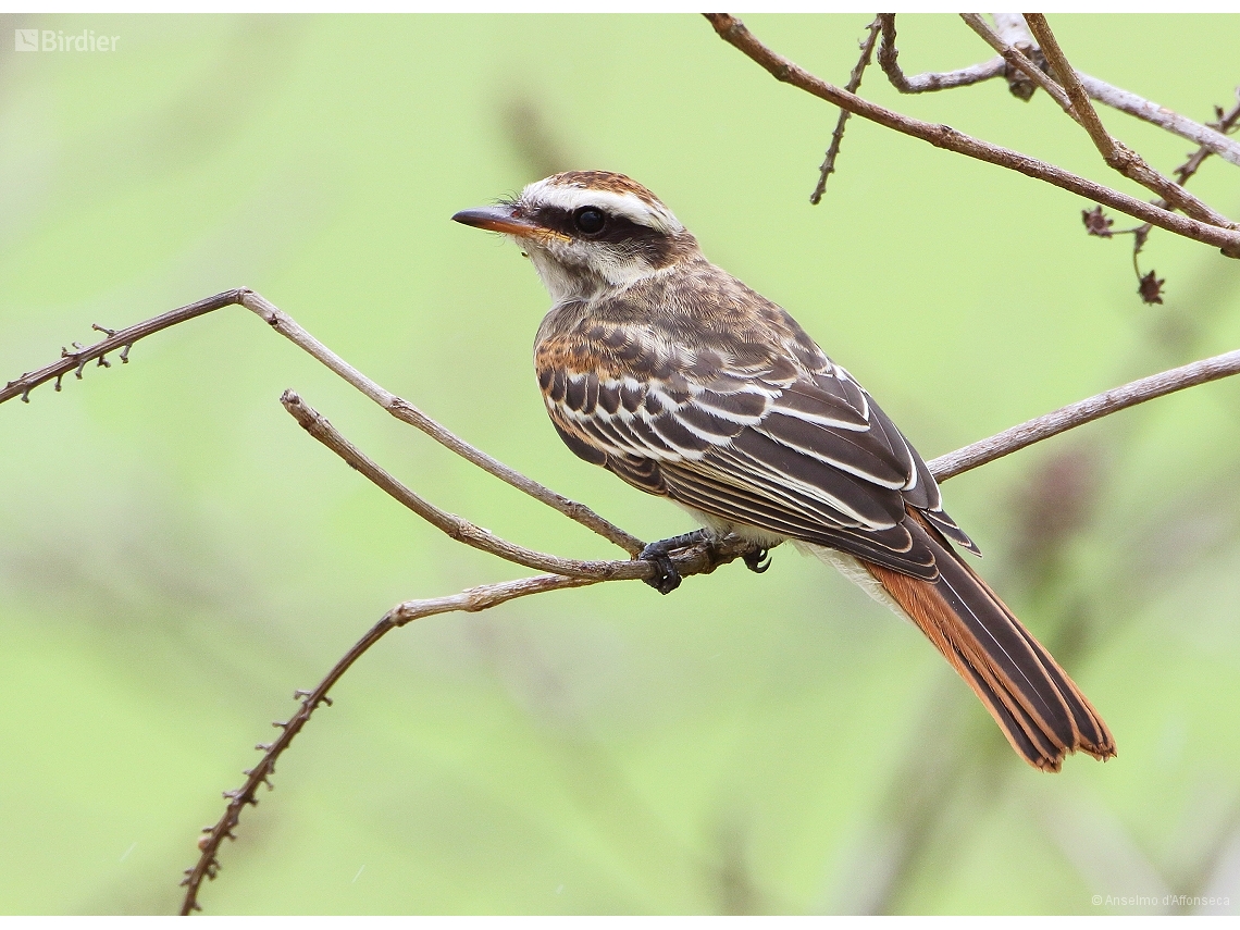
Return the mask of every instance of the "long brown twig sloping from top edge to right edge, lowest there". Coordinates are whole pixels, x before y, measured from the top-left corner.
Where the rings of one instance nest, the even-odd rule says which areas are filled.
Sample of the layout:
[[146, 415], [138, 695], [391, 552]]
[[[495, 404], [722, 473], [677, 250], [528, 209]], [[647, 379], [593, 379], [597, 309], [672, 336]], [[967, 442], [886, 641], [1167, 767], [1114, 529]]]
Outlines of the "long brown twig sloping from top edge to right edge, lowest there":
[[1045, 181], [1055, 187], [1061, 187], [1065, 191], [1087, 197], [1091, 201], [1105, 203], [1121, 213], [1151, 222], [1178, 236], [1215, 246], [1229, 258], [1240, 258], [1240, 231], [1211, 226], [1172, 213], [1171, 211], [1156, 207], [1136, 197], [1130, 197], [1110, 187], [1104, 187], [1100, 184], [1089, 181], [1070, 171], [1064, 171], [1055, 165], [1049, 165], [1029, 155], [975, 139], [951, 126], [925, 123], [920, 119], [905, 117], [879, 107], [862, 97], [848, 93], [843, 88], [822, 81], [777, 52], [771, 51], [735, 16], [729, 14], [706, 14], [706, 17], [711, 21], [711, 25], [720, 38], [760, 64], [776, 81], [792, 84], [827, 103], [843, 107], [858, 117], [873, 120], [898, 133], [911, 135], [915, 139], [921, 139], [939, 149], [946, 149], [947, 151], [955, 151], [971, 159], [1018, 171], [1028, 177]]

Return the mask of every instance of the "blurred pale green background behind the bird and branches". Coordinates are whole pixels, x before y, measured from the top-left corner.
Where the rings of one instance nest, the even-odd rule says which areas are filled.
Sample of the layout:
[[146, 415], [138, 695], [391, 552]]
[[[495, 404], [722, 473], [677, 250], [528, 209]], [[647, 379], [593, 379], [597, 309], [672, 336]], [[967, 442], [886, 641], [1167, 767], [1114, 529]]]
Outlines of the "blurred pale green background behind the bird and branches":
[[[869, 17], [754, 16], [843, 83]], [[1240, 19], [1053, 19], [1083, 71], [1197, 119]], [[449, 222], [563, 167], [642, 181], [789, 308], [926, 458], [1240, 346], [1240, 263], [853, 119], [694, 16], [0, 17], [0, 377], [92, 322], [253, 286], [460, 435], [644, 538], [692, 528], [574, 459], [529, 351], [547, 298]], [[10, 29], [120, 36], [15, 53]], [[988, 57], [901, 16], [906, 71]], [[905, 113], [1109, 174], [1042, 93]], [[1189, 144], [1105, 112], [1169, 172]], [[1240, 215], [1240, 175], [1192, 182]], [[1117, 227], [1126, 226], [1122, 217]], [[226, 309], [0, 408], [0, 911], [169, 913], [268, 722], [392, 604], [525, 574], [309, 439], [298, 389], [440, 506], [611, 557]], [[795, 552], [660, 598], [609, 584], [444, 615], [368, 653], [223, 849], [207, 913], [1151, 913], [1240, 909], [1240, 384], [946, 485], [981, 570], [1115, 732], [1027, 768], [913, 629]], [[1104, 903], [1095, 905], [1095, 895]], [[1145, 895], [1159, 903], [1106, 904]]]

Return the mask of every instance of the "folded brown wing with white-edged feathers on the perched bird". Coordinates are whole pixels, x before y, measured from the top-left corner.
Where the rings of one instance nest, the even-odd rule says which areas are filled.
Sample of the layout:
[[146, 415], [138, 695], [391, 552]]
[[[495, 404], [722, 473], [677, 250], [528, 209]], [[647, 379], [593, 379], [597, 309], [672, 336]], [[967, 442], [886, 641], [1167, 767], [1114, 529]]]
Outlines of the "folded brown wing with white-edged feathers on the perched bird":
[[[604, 345], [563, 341], [538, 352], [548, 413], [580, 458], [723, 521], [918, 578], [937, 569], [904, 526], [909, 506], [976, 552], [944, 513], [921, 458], [825, 356], [817, 371], [779, 360], [703, 363], [626, 329], [647, 351], [627, 360], [624, 374], [600, 361]], [[667, 357], [677, 351], [682, 357]]]

